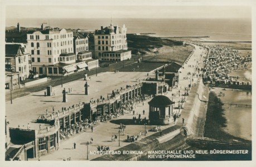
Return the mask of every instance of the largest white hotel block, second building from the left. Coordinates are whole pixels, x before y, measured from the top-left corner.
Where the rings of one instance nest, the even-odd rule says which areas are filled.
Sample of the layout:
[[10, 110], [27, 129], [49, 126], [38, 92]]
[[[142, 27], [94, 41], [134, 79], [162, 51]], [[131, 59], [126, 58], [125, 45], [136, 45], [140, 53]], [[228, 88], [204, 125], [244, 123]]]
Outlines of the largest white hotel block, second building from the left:
[[[73, 53], [73, 32], [65, 29], [52, 29], [27, 34], [27, 50], [31, 52], [32, 70], [39, 75], [59, 75], [62, 73], [55, 67], [53, 73], [47, 71], [47, 66], [60, 63], [60, 55]], [[70, 61], [70, 60], [69, 60]]]

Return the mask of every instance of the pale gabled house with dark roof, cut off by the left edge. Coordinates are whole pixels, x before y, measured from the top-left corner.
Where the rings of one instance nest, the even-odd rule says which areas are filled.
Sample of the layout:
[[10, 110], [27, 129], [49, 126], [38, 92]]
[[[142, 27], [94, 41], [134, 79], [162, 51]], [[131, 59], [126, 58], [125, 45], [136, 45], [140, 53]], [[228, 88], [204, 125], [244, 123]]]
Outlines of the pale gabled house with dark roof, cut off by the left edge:
[[24, 81], [30, 75], [31, 54], [23, 43], [6, 43], [6, 71], [19, 72], [20, 80]]

